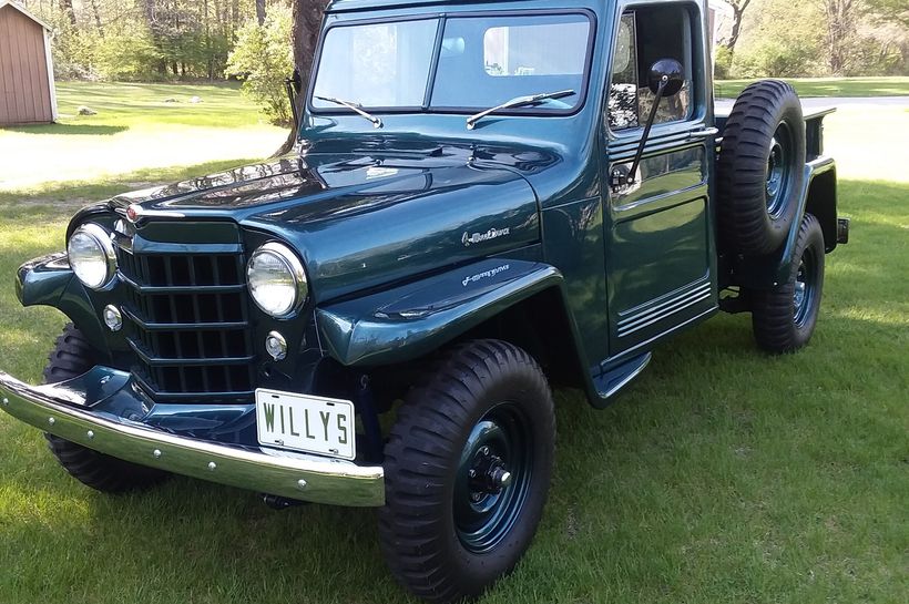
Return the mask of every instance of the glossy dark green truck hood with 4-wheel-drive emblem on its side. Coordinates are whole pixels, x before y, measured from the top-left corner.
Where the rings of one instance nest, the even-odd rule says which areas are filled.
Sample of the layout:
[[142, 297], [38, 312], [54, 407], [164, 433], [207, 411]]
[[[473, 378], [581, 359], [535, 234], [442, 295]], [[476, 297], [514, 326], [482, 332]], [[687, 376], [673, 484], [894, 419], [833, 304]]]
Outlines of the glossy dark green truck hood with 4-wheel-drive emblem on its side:
[[463, 147], [313, 153], [110, 205], [149, 221], [229, 219], [254, 242], [283, 239], [303, 257], [319, 303], [538, 243], [538, 199], [522, 171], [542, 157]]

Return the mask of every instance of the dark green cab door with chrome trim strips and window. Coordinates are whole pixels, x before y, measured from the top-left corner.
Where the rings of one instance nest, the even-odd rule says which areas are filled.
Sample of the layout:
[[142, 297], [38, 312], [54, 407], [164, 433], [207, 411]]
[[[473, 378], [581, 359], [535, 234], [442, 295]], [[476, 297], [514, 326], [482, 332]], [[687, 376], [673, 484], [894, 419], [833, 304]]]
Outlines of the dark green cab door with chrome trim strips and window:
[[[634, 4], [619, 20], [604, 119], [610, 356], [652, 342], [717, 306], [709, 175], [715, 154], [703, 18], [694, 3]], [[627, 174], [654, 94], [651, 65], [675, 59], [682, 91], [657, 105], [640, 168]]]

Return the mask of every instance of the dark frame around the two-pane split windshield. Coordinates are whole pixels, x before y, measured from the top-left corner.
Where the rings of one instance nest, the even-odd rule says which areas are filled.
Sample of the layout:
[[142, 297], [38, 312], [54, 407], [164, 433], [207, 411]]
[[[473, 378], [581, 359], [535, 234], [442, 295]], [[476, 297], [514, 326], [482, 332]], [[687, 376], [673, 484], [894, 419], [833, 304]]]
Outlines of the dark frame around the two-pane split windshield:
[[[581, 16], [584, 17], [588, 22], [590, 23], [589, 35], [588, 35], [588, 43], [586, 43], [586, 57], [584, 58], [584, 70], [581, 74], [581, 86], [578, 91], [578, 103], [569, 109], [541, 109], [539, 106], [520, 106], [520, 108], [512, 108], [496, 112], [497, 115], [528, 115], [528, 116], [568, 116], [574, 115], [579, 113], [584, 105], [586, 104], [588, 92], [590, 89], [590, 75], [591, 70], [593, 68], [593, 58], [594, 58], [594, 49], [596, 45], [596, 14], [585, 8], [562, 8], [562, 9], [534, 9], [534, 10], [472, 10], [472, 11], [463, 11], [463, 12], [428, 12], [428, 13], [418, 13], [418, 14], [407, 14], [400, 17], [375, 17], [369, 19], [351, 19], [351, 20], [340, 20], [334, 23], [326, 25], [321, 35], [319, 37], [318, 49], [316, 50], [316, 55], [313, 61], [313, 71], [309, 74], [309, 83], [307, 88], [306, 94], [306, 110], [311, 115], [355, 115], [353, 111], [343, 106], [331, 106], [331, 108], [317, 108], [314, 105], [313, 100], [316, 90], [316, 80], [318, 78], [318, 71], [321, 65], [321, 58], [323, 58], [323, 50], [325, 48], [326, 40], [328, 39], [329, 32], [335, 28], [346, 28], [346, 27], [356, 27], [356, 25], [369, 25], [369, 24], [381, 24], [381, 23], [400, 23], [407, 21], [437, 21], [437, 30], [436, 30], [436, 40], [435, 45], [432, 48], [430, 65], [429, 65], [429, 74], [427, 78], [426, 83], [426, 91], [423, 93], [423, 102], [421, 105], [412, 105], [412, 106], [368, 106], [364, 105], [362, 109], [367, 110], [371, 114], [386, 114], [386, 115], [394, 115], [394, 114], [412, 114], [412, 113], [423, 113], [423, 114], [455, 114], [455, 115], [473, 115], [478, 111], [483, 111], [489, 109], [489, 106], [468, 106], [468, 105], [453, 105], [453, 106], [432, 106], [432, 91], [436, 86], [436, 78], [439, 71], [439, 58], [441, 54], [442, 49], [442, 40], [445, 38], [446, 32], [446, 24], [448, 20], [453, 19], [469, 19], [469, 18], [532, 18], [532, 17], [570, 17], [570, 16]], [[548, 91], [538, 91], [538, 92], [548, 92]], [[357, 101], [357, 99], [345, 99], [346, 101]], [[501, 102], [509, 101], [510, 99], [502, 99]]]

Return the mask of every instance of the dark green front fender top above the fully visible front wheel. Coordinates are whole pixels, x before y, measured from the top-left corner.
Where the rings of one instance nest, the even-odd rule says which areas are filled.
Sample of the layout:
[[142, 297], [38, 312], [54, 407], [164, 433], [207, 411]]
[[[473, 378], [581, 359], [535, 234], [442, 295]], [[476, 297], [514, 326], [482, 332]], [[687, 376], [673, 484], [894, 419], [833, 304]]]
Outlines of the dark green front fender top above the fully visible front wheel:
[[412, 360], [510, 306], [562, 287], [553, 266], [489, 258], [316, 310], [323, 346], [346, 366]]

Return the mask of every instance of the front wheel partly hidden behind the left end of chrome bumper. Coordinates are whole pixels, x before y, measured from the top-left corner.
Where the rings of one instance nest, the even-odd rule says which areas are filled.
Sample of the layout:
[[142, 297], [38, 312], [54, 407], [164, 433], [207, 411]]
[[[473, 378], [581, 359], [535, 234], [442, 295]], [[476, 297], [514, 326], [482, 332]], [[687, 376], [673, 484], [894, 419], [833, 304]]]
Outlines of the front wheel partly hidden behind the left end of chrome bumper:
[[[82, 331], [69, 324], [48, 357], [44, 383], [79, 377], [95, 365], [94, 349]], [[47, 432], [44, 438], [60, 465], [74, 479], [96, 491], [121, 493], [144, 489], [168, 475], [162, 470], [112, 458]]]

